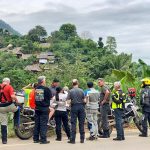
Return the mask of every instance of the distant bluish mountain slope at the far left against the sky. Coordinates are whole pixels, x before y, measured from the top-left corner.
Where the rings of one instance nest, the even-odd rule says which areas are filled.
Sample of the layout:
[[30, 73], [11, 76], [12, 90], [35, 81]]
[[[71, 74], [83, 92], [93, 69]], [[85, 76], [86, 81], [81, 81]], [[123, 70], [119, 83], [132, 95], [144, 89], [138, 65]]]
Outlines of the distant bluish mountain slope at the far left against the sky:
[[9, 24], [4, 22], [3, 20], [0, 20], [0, 29], [8, 30], [9, 33], [20, 36], [21, 34], [14, 30]]

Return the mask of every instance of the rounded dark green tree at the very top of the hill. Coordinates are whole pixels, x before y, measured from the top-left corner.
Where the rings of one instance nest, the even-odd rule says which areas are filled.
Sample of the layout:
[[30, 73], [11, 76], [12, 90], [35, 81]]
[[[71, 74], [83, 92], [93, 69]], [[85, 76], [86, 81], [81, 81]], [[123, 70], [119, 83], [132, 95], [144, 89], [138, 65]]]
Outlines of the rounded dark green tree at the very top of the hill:
[[59, 31], [63, 33], [65, 40], [77, 36], [76, 26], [73, 24], [63, 24]]

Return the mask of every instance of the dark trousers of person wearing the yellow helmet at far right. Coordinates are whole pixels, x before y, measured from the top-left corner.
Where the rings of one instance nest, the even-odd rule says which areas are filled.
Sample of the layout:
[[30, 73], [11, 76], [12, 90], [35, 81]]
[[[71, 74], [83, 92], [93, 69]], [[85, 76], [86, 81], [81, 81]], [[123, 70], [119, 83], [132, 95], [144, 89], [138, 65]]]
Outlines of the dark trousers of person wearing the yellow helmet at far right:
[[142, 120], [142, 126], [143, 126], [143, 134], [148, 134], [148, 125], [147, 122], [150, 125], [150, 112], [143, 112], [143, 120]]

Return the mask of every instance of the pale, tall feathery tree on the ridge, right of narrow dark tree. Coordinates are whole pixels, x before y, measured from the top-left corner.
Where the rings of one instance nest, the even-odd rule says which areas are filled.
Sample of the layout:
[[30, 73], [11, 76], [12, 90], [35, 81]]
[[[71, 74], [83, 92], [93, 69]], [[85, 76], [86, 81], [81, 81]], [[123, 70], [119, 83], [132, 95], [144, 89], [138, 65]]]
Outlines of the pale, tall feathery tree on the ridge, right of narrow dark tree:
[[106, 48], [107, 51], [111, 53], [117, 53], [116, 48], [117, 48], [117, 43], [115, 37], [108, 36], [106, 40]]

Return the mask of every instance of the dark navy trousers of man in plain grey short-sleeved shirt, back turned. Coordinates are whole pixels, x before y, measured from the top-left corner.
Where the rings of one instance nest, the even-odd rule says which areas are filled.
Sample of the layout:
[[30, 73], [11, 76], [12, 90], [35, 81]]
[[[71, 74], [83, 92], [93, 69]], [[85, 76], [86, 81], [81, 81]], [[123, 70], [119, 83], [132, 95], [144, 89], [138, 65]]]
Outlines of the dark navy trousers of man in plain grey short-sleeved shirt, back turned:
[[80, 140], [84, 140], [85, 109], [83, 104], [74, 104], [73, 106], [71, 106], [71, 140], [72, 141], [75, 141], [76, 138], [77, 118], [79, 121]]

